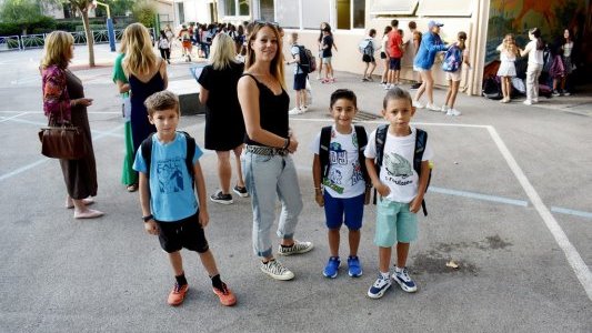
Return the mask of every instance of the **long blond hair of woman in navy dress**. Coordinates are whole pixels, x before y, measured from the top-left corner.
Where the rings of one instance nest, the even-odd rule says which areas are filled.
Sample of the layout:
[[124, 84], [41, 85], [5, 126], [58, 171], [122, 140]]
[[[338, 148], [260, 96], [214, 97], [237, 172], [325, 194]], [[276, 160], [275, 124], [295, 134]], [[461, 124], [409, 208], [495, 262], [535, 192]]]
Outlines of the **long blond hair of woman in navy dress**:
[[152, 50], [150, 33], [142, 23], [132, 23], [123, 31], [127, 52], [123, 68], [128, 73], [148, 74], [157, 63], [157, 54]]

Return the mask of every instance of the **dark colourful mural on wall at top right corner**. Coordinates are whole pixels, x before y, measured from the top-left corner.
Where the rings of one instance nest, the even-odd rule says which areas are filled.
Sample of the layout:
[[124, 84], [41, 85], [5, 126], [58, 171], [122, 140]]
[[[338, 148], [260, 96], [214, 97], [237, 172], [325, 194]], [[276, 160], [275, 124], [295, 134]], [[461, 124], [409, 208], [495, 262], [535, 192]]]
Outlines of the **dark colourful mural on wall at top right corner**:
[[485, 63], [499, 59], [495, 48], [506, 33], [513, 33], [518, 46], [524, 48], [528, 31], [534, 27], [549, 43], [560, 39], [565, 28], [571, 29], [582, 42], [582, 54], [586, 54], [591, 49], [591, 13], [590, 0], [491, 0]]

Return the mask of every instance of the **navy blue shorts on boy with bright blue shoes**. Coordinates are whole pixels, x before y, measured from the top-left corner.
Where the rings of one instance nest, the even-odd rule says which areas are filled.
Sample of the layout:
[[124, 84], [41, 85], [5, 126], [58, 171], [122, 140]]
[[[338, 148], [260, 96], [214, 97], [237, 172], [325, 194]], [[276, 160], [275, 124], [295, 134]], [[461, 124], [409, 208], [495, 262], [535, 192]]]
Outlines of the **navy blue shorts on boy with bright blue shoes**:
[[349, 230], [360, 230], [364, 218], [365, 193], [353, 198], [333, 198], [324, 191], [324, 216], [327, 228], [340, 229], [345, 223]]

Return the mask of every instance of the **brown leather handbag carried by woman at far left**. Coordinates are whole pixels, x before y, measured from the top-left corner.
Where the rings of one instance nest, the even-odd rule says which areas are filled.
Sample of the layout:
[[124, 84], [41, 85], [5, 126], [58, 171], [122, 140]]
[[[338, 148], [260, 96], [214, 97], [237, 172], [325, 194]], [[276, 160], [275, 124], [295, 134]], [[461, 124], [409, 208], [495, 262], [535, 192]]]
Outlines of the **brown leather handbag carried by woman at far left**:
[[[52, 125], [53, 123], [53, 125]], [[79, 160], [87, 155], [82, 131], [68, 122], [49, 125], [39, 130], [41, 153], [51, 159]]]

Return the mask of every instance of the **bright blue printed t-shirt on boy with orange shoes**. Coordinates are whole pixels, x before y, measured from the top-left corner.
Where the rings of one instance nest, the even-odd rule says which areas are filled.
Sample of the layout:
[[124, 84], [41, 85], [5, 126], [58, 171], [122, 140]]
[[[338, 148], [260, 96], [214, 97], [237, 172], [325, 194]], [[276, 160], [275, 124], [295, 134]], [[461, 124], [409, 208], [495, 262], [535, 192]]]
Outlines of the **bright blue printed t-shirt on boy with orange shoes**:
[[[203, 154], [195, 144], [193, 164]], [[152, 135], [152, 161], [150, 163], [150, 210], [157, 221], [174, 222], [189, 218], [198, 211], [198, 200], [187, 170], [187, 139], [177, 132], [173, 141], [162, 143]], [[139, 149], [133, 170], [146, 173], [147, 165]]]

